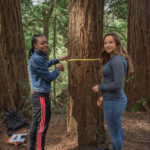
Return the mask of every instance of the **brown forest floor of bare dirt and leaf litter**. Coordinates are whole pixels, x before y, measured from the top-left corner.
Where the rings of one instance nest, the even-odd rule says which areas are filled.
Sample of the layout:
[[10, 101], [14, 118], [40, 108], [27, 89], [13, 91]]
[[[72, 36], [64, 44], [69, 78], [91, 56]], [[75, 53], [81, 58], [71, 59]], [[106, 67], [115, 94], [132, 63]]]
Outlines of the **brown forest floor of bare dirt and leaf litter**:
[[[143, 112], [125, 112], [123, 117], [124, 148], [123, 150], [150, 150], [150, 117]], [[28, 133], [28, 128], [17, 130], [15, 133]], [[107, 131], [107, 127], [106, 127]], [[15, 147], [6, 144], [9, 138], [4, 128], [0, 128], [0, 150], [28, 150], [28, 142]], [[108, 142], [110, 137], [108, 135]], [[28, 141], [28, 138], [27, 138]], [[109, 144], [111, 149], [111, 143]], [[52, 114], [51, 123], [46, 136], [46, 150], [78, 150], [77, 137], [66, 134], [66, 115]], [[81, 149], [80, 149], [81, 150]], [[92, 150], [82, 148], [82, 150]]]

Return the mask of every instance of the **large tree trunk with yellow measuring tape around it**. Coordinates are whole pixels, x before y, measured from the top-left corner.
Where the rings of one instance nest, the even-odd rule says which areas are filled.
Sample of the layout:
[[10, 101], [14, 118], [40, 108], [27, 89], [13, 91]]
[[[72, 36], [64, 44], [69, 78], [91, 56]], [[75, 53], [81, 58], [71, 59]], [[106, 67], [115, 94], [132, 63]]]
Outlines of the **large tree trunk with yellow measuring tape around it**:
[[[104, 0], [70, 0], [68, 49], [70, 58], [99, 58], [102, 46]], [[104, 143], [102, 109], [96, 101], [98, 95], [91, 90], [100, 83], [98, 61], [69, 63], [69, 134], [77, 127], [78, 145], [91, 146]]]

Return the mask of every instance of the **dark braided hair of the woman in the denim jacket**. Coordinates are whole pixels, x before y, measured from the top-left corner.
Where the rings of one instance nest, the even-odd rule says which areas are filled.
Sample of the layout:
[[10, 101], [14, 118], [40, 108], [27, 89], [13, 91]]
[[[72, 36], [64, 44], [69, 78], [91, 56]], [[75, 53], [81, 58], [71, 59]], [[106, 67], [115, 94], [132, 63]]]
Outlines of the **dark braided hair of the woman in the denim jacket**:
[[41, 36], [44, 36], [44, 35], [42, 35], [42, 34], [34, 34], [33, 36], [32, 36], [32, 39], [31, 39], [31, 49], [29, 50], [29, 59], [30, 59], [30, 57], [31, 57], [31, 55], [34, 53], [34, 44], [37, 42], [37, 38], [38, 37], [41, 37]]

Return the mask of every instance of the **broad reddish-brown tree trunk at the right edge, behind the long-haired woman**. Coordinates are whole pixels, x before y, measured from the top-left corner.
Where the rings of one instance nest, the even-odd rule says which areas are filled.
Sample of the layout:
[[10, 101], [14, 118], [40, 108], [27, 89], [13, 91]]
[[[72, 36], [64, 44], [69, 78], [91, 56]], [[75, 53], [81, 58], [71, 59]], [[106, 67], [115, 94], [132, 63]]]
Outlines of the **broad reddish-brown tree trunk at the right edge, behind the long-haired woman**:
[[128, 44], [135, 73], [126, 83], [129, 107], [139, 100], [150, 106], [150, 1], [128, 0]]

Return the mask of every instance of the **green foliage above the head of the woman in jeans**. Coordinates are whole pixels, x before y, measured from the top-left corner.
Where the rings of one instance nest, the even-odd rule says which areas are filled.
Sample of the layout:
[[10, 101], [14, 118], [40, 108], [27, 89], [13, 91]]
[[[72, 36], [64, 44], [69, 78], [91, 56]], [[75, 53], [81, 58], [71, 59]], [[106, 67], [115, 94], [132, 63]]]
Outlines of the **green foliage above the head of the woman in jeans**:
[[104, 34], [115, 32], [127, 44], [127, 0], [105, 0]]

